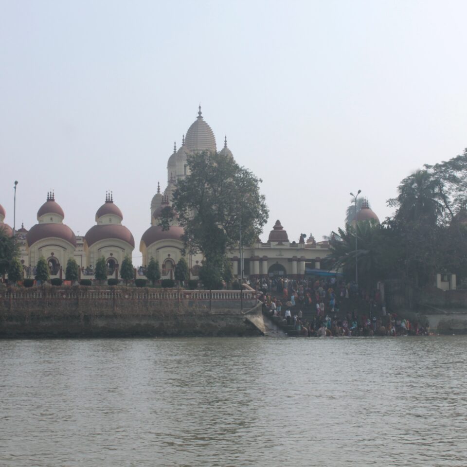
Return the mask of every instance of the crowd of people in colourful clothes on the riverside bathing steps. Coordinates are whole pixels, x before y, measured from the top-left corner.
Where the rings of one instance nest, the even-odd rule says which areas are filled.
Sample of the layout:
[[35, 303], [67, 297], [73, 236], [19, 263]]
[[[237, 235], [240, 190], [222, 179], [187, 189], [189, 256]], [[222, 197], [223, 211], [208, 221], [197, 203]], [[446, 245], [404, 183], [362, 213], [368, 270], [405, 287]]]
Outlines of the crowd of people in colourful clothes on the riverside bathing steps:
[[269, 278], [254, 282], [272, 320], [301, 336], [427, 335], [425, 323], [386, 314], [379, 290], [361, 291], [354, 282]]

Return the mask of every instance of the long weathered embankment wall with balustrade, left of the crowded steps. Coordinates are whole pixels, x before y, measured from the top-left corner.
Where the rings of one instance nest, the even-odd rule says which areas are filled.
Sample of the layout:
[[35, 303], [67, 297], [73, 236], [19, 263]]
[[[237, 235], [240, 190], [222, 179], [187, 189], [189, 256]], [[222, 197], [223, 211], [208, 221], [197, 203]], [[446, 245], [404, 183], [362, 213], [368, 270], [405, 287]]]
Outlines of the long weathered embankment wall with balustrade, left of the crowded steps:
[[[246, 310], [250, 310], [247, 312]], [[260, 335], [261, 307], [243, 292], [112, 287], [0, 290], [0, 338]]]

